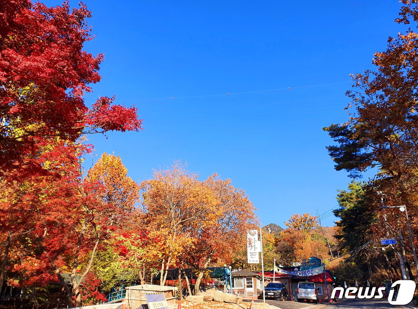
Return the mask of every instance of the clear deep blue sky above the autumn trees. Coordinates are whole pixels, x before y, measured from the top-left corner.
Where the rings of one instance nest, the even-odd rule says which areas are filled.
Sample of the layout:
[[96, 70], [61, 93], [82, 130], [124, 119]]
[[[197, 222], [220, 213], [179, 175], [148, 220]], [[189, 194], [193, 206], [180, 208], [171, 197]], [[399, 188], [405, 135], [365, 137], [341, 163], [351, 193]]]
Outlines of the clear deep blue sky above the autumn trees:
[[[91, 136], [98, 155], [114, 151], [137, 181], [176, 159], [202, 179], [217, 172], [247, 192], [263, 225], [336, 206], [349, 178], [321, 128], [347, 120], [349, 74], [371, 69], [403, 31], [398, 1], [84, 3], [97, 36], [85, 49], [105, 54], [87, 103], [116, 95], [145, 129]], [[254, 92], [267, 89], [281, 90]]]

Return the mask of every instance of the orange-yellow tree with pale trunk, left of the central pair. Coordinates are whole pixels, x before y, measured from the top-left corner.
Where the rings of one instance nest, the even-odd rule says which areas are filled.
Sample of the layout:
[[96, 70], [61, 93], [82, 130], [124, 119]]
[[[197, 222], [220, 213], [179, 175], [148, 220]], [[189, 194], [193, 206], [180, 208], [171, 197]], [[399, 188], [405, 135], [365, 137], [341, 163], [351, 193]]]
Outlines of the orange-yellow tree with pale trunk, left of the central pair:
[[150, 247], [161, 261], [160, 284], [164, 285], [170, 266], [192, 244], [199, 229], [216, 222], [217, 197], [180, 162], [171, 169], [154, 171], [154, 178], [141, 183], [142, 207]]

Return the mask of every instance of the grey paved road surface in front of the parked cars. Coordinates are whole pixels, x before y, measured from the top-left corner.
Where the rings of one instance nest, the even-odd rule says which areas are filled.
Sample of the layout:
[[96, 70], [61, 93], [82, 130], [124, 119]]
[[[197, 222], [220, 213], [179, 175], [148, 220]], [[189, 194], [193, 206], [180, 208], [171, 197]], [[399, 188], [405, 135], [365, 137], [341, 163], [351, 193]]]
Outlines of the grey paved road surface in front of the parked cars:
[[[260, 300], [256, 300], [261, 302]], [[389, 304], [387, 299], [341, 299], [331, 304], [314, 304], [314, 303], [298, 303], [297, 301], [274, 301], [266, 300], [270, 305], [277, 306], [281, 309], [303, 309], [312, 307], [312, 309], [385, 309], [397, 308]]]

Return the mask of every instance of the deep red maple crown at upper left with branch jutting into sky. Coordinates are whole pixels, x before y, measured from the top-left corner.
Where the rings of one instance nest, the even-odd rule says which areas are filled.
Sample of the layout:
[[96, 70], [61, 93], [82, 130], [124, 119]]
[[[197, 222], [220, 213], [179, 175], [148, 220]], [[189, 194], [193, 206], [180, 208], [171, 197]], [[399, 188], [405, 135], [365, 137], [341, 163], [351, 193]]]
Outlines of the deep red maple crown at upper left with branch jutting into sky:
[[89, 108], [83, 95], [100, 81], [103, 54], [83, 50], [92, 40], [86, 6], [48, 8], [3, 0], [0, 12], [0, 173], [38, 151], [42, 137], [74, 141], [82, 133], [141, 128], [135, 107], [101, 97]]

